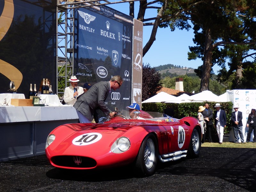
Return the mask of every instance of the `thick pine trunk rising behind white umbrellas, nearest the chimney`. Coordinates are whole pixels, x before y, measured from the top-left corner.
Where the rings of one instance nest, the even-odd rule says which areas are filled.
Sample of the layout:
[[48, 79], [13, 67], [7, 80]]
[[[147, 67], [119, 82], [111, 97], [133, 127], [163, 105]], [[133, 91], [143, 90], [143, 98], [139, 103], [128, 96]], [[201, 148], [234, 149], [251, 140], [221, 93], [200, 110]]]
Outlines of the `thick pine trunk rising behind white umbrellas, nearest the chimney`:
[[211, 29], [208, 28], [205, 31], [205, 42], [204, 42], [204, 62], [202, 66], [202, 78], [200, 84], [200, 92], [209, 90], [210, 73], [212, 67], [212, 35]]

